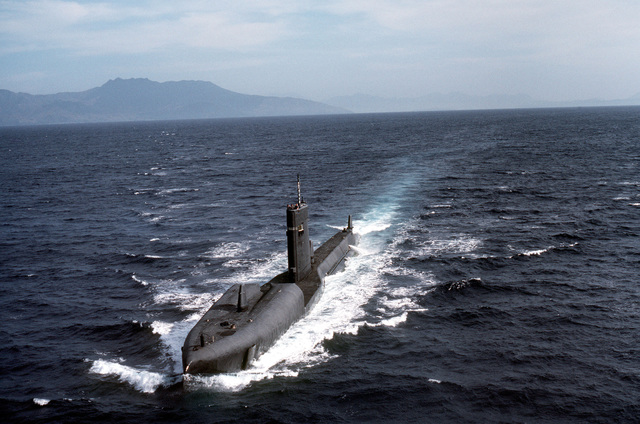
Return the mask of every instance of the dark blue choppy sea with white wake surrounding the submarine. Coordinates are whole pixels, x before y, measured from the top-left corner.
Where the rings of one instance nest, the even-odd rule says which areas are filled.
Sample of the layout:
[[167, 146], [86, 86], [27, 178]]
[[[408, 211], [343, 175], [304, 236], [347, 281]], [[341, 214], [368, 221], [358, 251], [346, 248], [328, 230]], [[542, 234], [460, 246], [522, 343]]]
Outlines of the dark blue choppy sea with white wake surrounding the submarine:
[[[5, 422], [640, 419], [640, 108], [0, 128]], [[251, 369], [181, 375], [234, 283], [357, 256]]]

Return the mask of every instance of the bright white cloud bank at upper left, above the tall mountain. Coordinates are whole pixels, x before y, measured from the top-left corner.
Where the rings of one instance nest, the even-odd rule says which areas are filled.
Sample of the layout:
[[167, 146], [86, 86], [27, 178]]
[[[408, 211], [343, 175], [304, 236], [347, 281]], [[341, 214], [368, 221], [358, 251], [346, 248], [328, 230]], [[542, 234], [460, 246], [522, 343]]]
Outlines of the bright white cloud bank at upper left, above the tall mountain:
[[[191, 5], [192, 7], [186, 7]], [[286, 34], [282, 23], [201, 2], [79, 3], [33, 0], [0, 3], [2, 50], [68, 50], [79, 54], [143, 53], [163, 48], [241, 49]], [[267, 14], [277, 12], [267, 7]], [[240, 10], [240, 12], [243, 12]]]

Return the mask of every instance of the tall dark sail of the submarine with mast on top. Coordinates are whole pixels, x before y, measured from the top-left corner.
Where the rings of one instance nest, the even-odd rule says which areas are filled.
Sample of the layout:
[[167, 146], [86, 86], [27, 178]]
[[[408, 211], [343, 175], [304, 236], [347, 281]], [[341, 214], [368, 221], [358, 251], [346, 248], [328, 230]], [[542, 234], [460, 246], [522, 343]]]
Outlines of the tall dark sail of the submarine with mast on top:
[[300, 194], [298, 175], [298, 203], [287, 206], [287, 254], [289, 282], [297, 283], [311, 272], [313, 248], [309, 241], [309, 209]]

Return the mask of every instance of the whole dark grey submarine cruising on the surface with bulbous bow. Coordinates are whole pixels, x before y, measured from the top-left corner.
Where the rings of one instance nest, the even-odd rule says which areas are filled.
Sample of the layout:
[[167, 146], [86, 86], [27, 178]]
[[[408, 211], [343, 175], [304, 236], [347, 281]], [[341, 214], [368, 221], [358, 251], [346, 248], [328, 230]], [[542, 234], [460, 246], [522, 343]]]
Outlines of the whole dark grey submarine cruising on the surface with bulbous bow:
[[339, 270], [357, 244], [347, 226], [315, 251], [309, 240], [309, 208], [300, 193], [287, 205], [288, 270], [269, 282], [234, 284], [191, 329], [182, 346], [184, 374], [246, 370], [320, 298], [325, 276]]

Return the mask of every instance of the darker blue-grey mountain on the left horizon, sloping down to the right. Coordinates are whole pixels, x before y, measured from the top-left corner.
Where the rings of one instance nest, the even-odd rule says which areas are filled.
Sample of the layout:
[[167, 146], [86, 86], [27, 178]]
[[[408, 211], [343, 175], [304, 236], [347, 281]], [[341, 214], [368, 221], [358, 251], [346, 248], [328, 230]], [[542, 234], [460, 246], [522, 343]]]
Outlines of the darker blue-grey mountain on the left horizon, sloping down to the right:
[[240, 94], [206, 81], [110, 80], [76, 93], [31, 95], [0, 90], [0, 125], [154, 121], [348, 113], [292, 97]]

